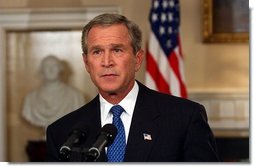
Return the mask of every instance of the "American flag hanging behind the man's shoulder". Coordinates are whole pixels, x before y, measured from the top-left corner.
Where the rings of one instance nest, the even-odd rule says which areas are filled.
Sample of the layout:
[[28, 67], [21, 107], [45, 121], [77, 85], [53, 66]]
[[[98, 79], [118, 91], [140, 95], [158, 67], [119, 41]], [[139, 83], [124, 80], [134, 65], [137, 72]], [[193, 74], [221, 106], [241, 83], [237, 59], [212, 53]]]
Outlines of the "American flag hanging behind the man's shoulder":
[[178, 0], [153, 0], [145, 84], [160, 92], [187, 97], [180, 43]]

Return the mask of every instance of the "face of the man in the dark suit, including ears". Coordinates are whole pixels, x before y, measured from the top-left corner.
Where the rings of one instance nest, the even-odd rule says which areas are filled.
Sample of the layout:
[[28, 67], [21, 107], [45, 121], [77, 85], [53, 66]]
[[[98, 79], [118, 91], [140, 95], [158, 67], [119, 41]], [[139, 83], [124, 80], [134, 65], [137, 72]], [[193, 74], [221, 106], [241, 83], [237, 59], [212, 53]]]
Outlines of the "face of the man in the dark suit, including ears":
[[84, 62], [99, 92], [128, 93], [141, 66], [143, 51], [134, 55], [127, 28], [122, 24], [95, 26], [88, 33], [87, 44]]

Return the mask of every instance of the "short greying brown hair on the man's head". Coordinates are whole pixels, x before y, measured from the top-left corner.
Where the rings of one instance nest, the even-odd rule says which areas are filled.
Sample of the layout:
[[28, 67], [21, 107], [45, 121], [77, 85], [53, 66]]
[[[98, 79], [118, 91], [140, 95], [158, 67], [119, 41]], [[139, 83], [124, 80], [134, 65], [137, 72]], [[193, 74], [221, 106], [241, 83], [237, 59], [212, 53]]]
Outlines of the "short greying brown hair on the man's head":
[[98, 25], [110, 26], [114, 24], [123, 24], [126, 26], [129, 32], [133, 52], [134, 54], [136, 54], [141, 49], [141, 44], [142, 44], [142, 33], [138, 25], [128, 20], [125, 16], [122, 16], [119, 14], [109, 14], [109, 13], [96, 16], [83, 28], [82, 37], [81, 37], [81, 45], [82, 45], [83, 53], [87, 55], [87, 52], [88, 52], [87, 36], [89, 31], [94, 26], [98, 26]]

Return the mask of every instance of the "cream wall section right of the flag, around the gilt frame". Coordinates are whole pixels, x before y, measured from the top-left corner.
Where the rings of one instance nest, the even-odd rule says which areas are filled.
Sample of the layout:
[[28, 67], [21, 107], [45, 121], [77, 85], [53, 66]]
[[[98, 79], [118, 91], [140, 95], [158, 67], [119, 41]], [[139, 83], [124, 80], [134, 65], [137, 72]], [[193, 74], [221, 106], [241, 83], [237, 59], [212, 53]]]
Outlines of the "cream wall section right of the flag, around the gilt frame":
[[202, 43], [202, 0], [181, 2], [182, 45], [189, 91], [248, 92], [249, 45]]

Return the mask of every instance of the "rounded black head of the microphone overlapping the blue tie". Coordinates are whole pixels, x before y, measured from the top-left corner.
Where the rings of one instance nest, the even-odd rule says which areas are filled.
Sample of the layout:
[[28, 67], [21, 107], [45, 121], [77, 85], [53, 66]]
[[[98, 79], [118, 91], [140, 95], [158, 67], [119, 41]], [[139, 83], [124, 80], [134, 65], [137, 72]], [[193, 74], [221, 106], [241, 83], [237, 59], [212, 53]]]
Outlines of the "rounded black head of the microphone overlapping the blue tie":
[[112, 144], [117, 135], [117, 129], [113, 124], [106, 124], [101, 129], [101, 134], [105, 134], [108, 139], [108, 145]]

